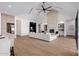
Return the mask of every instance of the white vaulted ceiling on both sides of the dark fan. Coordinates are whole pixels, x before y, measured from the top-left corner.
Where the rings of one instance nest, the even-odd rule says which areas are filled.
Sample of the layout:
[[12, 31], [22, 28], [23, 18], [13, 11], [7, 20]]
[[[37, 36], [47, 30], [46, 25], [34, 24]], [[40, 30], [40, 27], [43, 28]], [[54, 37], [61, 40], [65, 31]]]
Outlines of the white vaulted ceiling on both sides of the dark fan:
[[[23, 15], [28, 13], [31, 8], [39, 8], [40, 2], [0, 2], [0, 12], [8, 13], [12, 15]], [[49, 3], [53, 8], [58, 9], [65, 15], [72, 16], [73, 10], [75, 10], [76, 2], [51, 2]], [[12, 5], [11, 8], [8, 5]]]

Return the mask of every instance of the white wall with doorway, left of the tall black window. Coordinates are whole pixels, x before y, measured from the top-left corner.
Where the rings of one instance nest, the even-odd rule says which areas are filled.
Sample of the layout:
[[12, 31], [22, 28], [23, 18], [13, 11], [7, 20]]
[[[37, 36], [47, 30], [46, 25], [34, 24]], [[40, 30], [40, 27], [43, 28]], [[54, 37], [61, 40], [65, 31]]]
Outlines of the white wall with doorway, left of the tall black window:
[[[15, 20], [16, 20], [16, 24], [17, 24], [17, 20], [21, 22], [20, 24], [18, 24], [19, 25], [19, 29], [18, 29], [19, 33], [16, 31], [16, 35], [17, 34], [21, 35], [21, 36], [27, 35], [29, 32], [29, 21], [26, 18], [23, 18], [21, 16], [18, 16], [18, 17], [16, 16]], [[17, 28], [18, 27], [16, 26], [15, 30], [17, 30]]]

